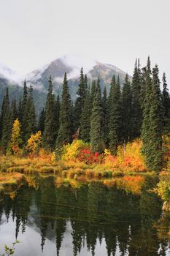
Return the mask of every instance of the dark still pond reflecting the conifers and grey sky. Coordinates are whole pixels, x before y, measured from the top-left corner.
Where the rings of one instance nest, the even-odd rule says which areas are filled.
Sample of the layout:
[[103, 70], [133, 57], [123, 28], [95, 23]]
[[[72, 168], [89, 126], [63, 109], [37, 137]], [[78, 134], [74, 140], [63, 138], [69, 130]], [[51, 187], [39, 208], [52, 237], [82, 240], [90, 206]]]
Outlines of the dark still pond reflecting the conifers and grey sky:
[[170, 255], [170, 217], [148, 187], [140, 195], [99, 182], [73, 189], [53, 176], [29, 185], [0, 203], [0, 247], [18, 238], [17, 256]]

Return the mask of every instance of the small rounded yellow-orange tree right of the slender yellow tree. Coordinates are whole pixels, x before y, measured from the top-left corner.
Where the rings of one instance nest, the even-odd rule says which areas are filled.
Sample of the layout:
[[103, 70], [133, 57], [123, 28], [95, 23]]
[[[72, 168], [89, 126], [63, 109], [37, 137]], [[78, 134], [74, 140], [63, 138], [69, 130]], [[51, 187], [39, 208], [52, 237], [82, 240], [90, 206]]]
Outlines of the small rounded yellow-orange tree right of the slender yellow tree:
[[32, 154], [38, 154], [39, 149], [42, 146], [42, 132], [36, 132], [34, 135], [28, 139], [27, 143], [27, 150], [30, 151]]

